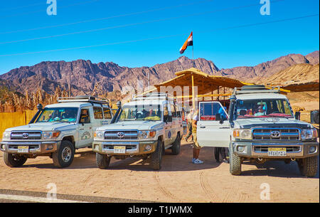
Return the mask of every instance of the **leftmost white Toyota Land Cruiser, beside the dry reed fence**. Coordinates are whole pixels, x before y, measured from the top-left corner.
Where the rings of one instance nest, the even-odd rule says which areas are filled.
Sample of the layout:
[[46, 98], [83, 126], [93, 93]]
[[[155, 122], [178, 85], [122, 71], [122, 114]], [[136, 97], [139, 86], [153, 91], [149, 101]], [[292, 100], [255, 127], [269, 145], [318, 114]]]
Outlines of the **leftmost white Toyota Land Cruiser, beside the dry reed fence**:
[[22, 166], [28, 158], [48, 156], [58, 167], [73, 162], [75, 149], [91, 147], [97, 127], [110, 124], [108, 102], [92, 96], [59, 97], [58, 103], [38, 105], [28, 125], [6, 129], [0, 149], [7, 166]]

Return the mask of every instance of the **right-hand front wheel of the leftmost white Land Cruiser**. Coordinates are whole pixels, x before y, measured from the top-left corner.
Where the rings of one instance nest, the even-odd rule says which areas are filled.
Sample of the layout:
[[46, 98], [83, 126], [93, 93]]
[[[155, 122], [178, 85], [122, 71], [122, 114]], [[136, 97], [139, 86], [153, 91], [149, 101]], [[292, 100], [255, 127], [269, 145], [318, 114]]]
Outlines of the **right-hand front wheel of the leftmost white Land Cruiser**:
[[53, 152], [53, 164], [59, 168], [70, 166], [75, 157], [75, 148], [68, 140], [63, 140], [57, 152]]

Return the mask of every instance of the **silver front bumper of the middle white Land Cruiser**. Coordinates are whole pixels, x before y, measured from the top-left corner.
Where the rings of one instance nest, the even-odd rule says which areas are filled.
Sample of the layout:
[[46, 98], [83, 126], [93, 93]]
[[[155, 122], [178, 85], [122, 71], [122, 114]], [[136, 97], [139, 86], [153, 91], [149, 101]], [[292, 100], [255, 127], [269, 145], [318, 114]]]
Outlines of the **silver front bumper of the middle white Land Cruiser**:
[[[100, 154], [110, 155], [139, 155], [139, 154], [150, 154], [156, 150], [156, 144], [158, 141], [124, 141], [124, 142], [113, 142], [113, 141], [94, 141], [92, 144], [93, 152]], [[151, 149], [146, 149], [147, 145]], [[125, 153], [114, 153], [115, 146], [126, 147]]]

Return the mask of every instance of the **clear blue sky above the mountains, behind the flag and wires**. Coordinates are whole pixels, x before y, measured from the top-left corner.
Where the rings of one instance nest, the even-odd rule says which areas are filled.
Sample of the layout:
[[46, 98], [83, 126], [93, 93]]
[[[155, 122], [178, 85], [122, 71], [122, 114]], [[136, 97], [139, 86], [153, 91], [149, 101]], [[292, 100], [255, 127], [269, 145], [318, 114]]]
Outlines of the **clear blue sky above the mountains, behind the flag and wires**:
[[[218, 68], [319, 50], [319, 15], [272, 23], [319, 14], [318, 0], [274, 0], [270, 16], [260, 14], [260, 0], [57, 0], [56, 16], [48, 16], [46, 1], [1, 2], [0, 74], [47, 60], [166, 63], [181, 56], [191, 31], [194, 58]], [[267, 24], [245, 26], [255, 23]], [[183, 55], [192, 58], [192, 49]]]

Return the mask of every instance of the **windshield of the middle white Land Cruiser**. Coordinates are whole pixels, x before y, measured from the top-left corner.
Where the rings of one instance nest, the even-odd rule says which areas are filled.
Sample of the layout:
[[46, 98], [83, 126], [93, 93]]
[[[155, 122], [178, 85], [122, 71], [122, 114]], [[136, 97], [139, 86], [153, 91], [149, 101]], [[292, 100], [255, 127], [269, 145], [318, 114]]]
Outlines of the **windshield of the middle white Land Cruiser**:
[[124, 105], [119, 117], [125, 120], [161, 120], [161, 105]]

